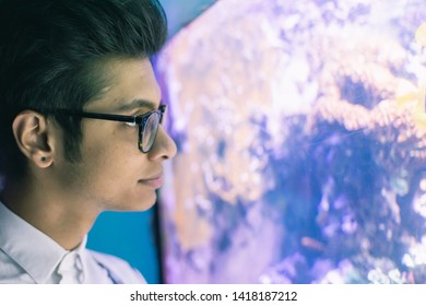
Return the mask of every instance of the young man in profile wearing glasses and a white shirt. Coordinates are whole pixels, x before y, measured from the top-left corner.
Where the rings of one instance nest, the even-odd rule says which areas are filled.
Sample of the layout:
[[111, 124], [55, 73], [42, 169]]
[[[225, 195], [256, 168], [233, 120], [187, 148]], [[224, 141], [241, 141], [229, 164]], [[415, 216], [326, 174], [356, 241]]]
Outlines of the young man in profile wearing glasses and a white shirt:
[[176, 145], [150, 62], [156, 0], [0, 0], [0, 283], [143, 283], [85, 249], [105, 210], [156, 201]]

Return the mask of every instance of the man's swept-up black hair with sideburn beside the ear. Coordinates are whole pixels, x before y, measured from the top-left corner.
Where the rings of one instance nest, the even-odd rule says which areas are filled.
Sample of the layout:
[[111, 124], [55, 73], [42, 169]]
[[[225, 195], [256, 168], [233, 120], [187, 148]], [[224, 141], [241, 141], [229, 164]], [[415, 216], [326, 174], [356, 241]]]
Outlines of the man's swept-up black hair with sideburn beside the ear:
[[79, 161], [81, 119], [51, 110], [82, 110], [106, 85], [100, 63], [151, 57], [166, 38], [157, 0], [0, 0], [0, 150], [8, 175], [23, 175], [26, 164], [12, 133], [16, 115], [52, 116], [66, 157]]

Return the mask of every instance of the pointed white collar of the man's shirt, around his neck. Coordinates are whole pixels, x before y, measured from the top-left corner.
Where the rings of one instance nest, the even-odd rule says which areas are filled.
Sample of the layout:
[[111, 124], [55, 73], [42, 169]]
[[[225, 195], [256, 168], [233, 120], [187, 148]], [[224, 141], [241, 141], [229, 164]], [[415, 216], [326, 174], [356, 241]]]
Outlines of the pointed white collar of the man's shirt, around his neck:
[[[84, 242], [76, 248], [81, 252]], [[45, 283], [67, 254], [54, 239], [0, 202], [0, 249], [20, 264], [36, 283]]]

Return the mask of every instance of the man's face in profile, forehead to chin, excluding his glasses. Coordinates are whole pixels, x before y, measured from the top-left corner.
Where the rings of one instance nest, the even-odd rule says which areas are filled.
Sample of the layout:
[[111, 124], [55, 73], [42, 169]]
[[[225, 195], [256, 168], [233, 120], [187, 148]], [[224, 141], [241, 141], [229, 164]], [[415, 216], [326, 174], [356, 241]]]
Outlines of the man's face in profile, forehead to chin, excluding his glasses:
[[[137, 116], [158, 108], [161, 92], [147, 59], [106, 64], [110, 86], [100, 98], [90, 102], [85, 111]], [[82, 131], [81, 162], [70, 163], [60, 152], [62, 157], [56, 163], [63, 188], [60, 193], [79, 201], [76, 207], [87, 204], [88, 210], [151, 208], [162, 185], [162, 164], [176, 154], [176, 144], [163, 127], [147, 153], [138, 148], [138, 126], [83, 118]]]

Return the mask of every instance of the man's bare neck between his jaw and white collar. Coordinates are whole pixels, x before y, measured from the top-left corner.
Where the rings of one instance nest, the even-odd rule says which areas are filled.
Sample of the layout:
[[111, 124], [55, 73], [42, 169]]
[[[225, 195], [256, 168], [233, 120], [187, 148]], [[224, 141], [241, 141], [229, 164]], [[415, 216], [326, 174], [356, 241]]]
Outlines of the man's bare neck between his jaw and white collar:
[[99, 212], [84, 209], [90, 205], [56, 195], [47, 187], [31, 179], [7, 180], [1, 200], [16, 215], [64, 249], [73, 249], [92, 228]]

